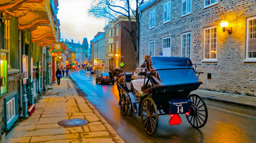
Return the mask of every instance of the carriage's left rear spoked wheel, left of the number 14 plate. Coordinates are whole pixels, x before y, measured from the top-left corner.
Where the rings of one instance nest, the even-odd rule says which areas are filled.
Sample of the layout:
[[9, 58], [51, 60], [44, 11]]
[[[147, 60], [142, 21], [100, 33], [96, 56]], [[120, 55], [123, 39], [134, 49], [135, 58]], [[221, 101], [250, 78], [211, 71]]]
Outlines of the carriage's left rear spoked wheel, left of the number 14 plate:
[[141, 105], [141, 121], [148, 135], [153, 135], [158, 126], [158, 113], [154, 100], [146, 97]]

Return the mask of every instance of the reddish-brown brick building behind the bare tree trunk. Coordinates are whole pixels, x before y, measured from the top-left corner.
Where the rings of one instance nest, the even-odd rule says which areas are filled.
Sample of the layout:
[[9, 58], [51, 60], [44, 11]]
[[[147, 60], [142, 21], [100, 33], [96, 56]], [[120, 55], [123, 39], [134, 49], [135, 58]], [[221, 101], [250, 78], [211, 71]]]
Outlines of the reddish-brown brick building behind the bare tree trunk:
[[[130, 33], [125, 28], [130, 29], [127, 17], [118, 16], [118, 22], [111, 21], [104, 27], [105, 30], [105, 72], [118, 68], [125, 72], [133, 72], [136, 68], [135, 50]], [[134, 37], [136, 37], [136, 19], [131, 17]], [[123, 65], [121, 64], [123, 63]], [[121, 64], [121, 65], [120, 65]]]

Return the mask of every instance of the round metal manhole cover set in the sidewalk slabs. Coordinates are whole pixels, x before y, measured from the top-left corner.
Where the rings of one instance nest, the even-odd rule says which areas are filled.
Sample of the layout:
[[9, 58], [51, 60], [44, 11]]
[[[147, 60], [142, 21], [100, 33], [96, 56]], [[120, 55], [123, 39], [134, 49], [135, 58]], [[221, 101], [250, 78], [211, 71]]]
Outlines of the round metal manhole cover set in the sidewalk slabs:
[[84, 119], [68, 119], [58, 122], [61, 127], [78, 127], [88, 124], [87, 120]]

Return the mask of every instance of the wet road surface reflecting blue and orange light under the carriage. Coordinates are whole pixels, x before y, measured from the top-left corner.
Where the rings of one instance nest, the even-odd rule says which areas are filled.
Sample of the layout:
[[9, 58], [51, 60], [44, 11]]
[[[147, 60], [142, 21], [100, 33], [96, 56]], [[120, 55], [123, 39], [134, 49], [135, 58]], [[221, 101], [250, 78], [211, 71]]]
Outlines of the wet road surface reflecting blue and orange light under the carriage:
[[[82, 70], [71, 76], [78, 88], [110, 123], [125, 142], [255, 142], [256, 110], [211, 100], [205, 100], [208, 108], [208, 121], [199, 130], [188, 123], [181, 115], [180, 125], [170, 126], [169, 116], [160, 116], [156, 134], [147, 135], [140, 117], [129, 112], [120, 114], [116, 85], [96, 84], [95, 77]], [[254, 140], [254, 141], [253, 141]]]

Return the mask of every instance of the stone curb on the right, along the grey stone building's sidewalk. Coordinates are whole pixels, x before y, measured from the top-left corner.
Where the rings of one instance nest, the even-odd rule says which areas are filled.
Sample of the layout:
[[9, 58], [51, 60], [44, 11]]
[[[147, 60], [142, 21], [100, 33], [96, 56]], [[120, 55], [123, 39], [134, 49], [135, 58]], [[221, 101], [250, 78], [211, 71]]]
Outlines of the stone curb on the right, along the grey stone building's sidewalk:
[[236, 102], [237, 100], [230, 100], [230, 99], [208, 96], [208, 95], [200, 95], [200, 96], [204, 99], [209, 99], [209, 100], [214, 100], [214, 101], [219, 101], [219, 102], [224, 102], [224, 103], [230, 103], [230, 104], [235, 104], [235, 105], [240, 105], [240, 106], [245, 106], [245, 107], [250, 107], [250, 108], [256, 108], [256, 105], [249, 105], [249, 104], [245, 104], [245, 103], [239, 103], [239, 101]]

